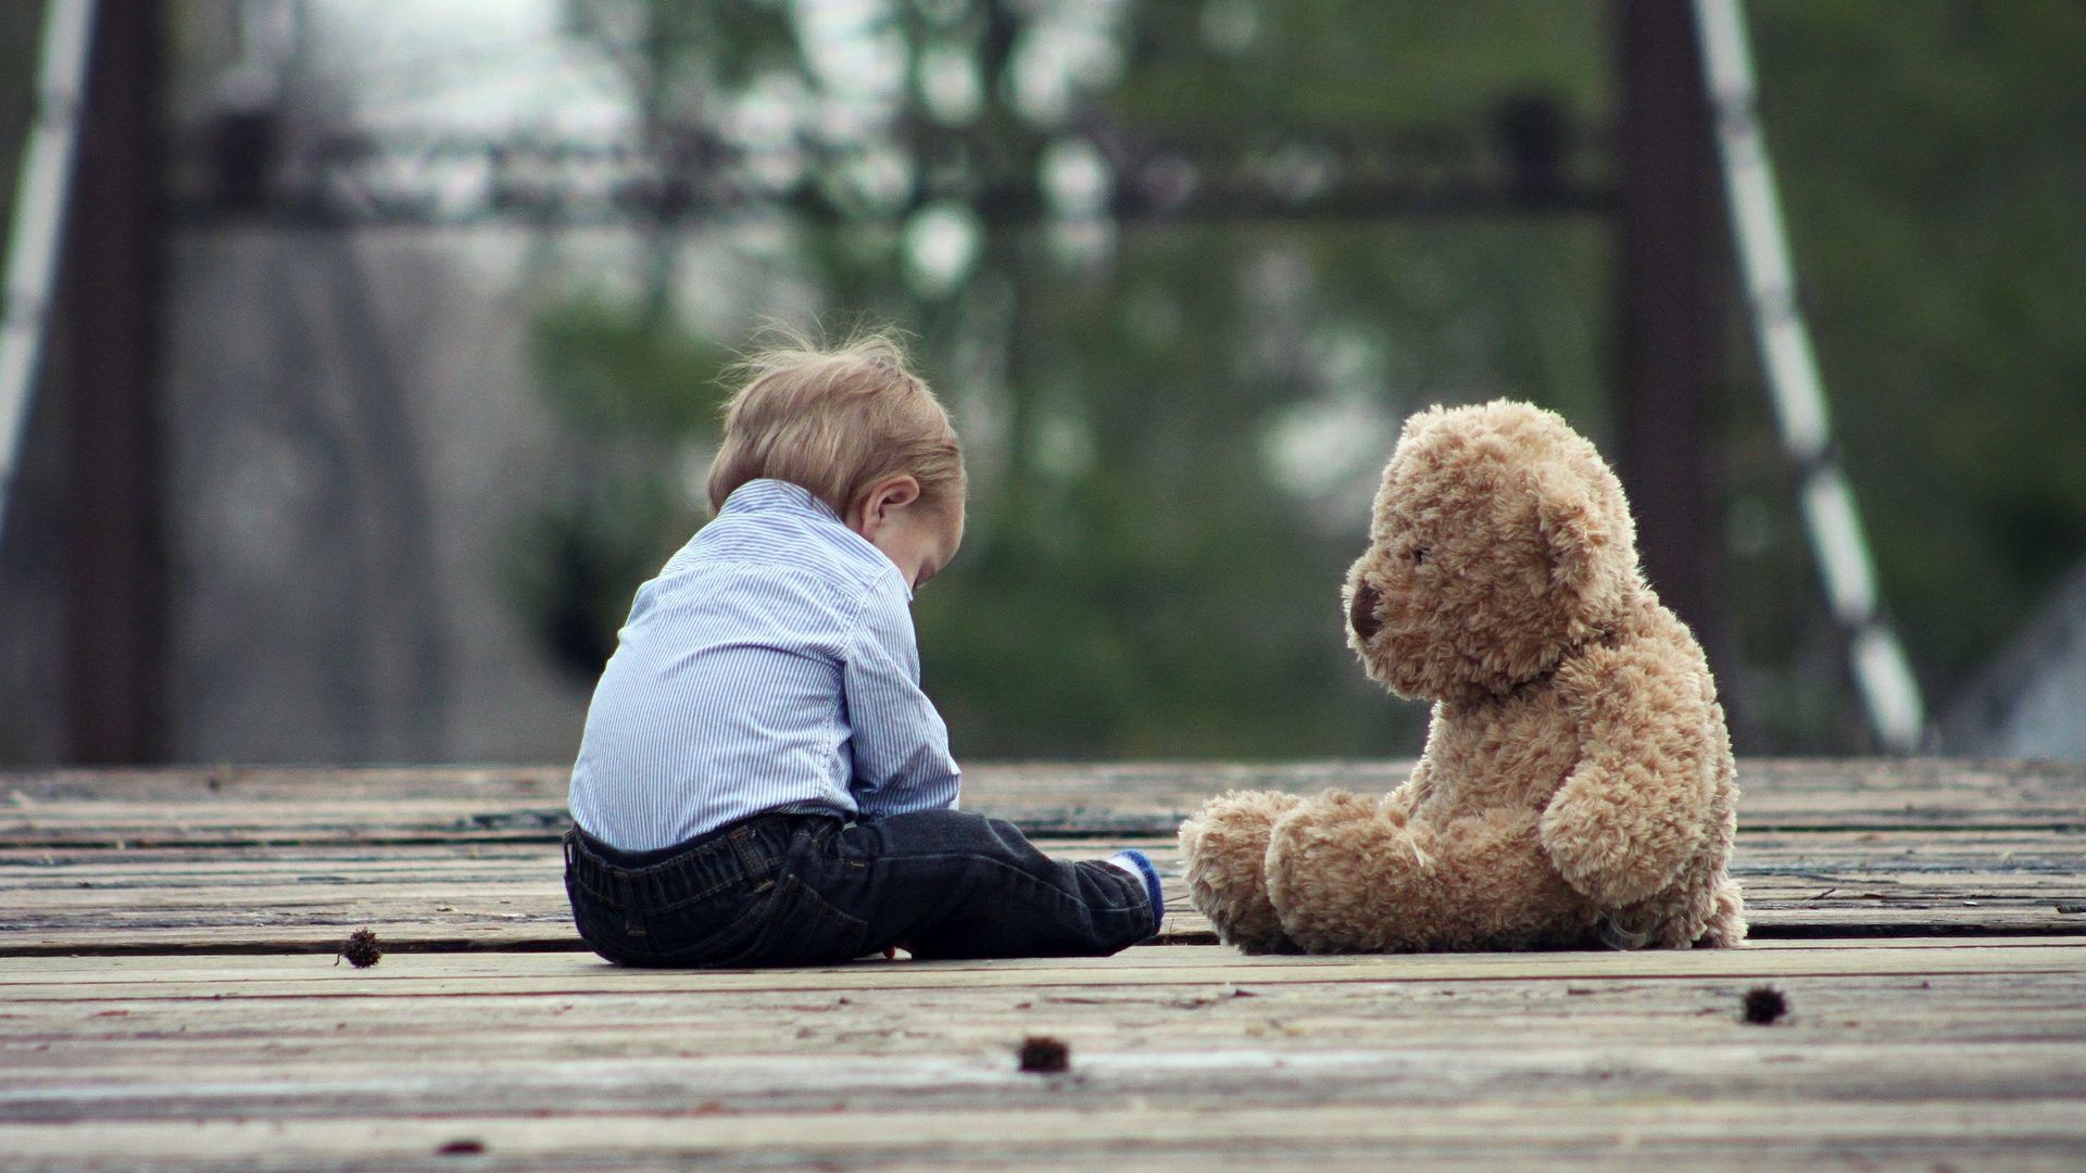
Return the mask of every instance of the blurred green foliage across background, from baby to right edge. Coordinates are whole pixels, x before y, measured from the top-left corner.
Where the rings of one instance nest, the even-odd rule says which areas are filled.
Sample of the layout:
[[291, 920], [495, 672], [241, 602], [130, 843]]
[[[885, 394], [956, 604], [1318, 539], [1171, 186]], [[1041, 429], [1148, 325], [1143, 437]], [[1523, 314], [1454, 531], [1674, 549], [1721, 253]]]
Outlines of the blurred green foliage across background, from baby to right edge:
[[[653, 8], [574, 0], [574, 27], [609, 38]], [[2086, 551], [2086, 8], [1748, 8], [1884, 597], [1930, 701], [1946, 699]], [[1049, 6], [897, 10], [909, 54], [955, 44], [983, 75], [983, 109], [935, 129], [937, 165], [1043, 167], [1060, 131], [1014, 109], [1008, 54]], [[1598, 142], [1610, 21], [1594, 0], [1147, 0], [1126, 6], [1120, 71], [1089, 100], [1122, 127], [1254, 144], [1297, 127], [1483, 138], [1504, 100], [1542, 96]], [[799, 31], [741, 21], [642, 42], [647, 123], [715, 113], [772, 69], [816, 94]], [[1335, 599], [1389, 428], [1425, 403], [1517, 394], [1604, 445], [1612, 430], [1617, 276], [1596, 217], [1126, 225], [1085, 250], [1049, 223], [987, 221], [947, 290], [907, 280], [903, 240], [870, 207], [799, 223], [776, 267], [834, 315], [914, 332], [966, 430], [970, 541], [916, 605], [926, 685], [966, 758], [1414, 749], [1425, 714], [1360, 678]], [[672, 484], [707, 451], [720, 344], [745, 336], [661, 313], [668, 278], [540, 321], [544, 390], [592, 472], [519, 543], [538, 616], [620, 618], [630, 568], [701, 522]], [[1723, 442], [1702, 453], [1727, 484], [1740, 664], [1721, 666], [1725, 693], [1748, 749], [1857, 745], [1736, 296], [1727, 336], [1704, 342], [1729, 355]], [[559, 559], [586, 568], [580, 589], [547, 586]], [[584, 672], [569, 649], [603, 645], [565, 647]]]

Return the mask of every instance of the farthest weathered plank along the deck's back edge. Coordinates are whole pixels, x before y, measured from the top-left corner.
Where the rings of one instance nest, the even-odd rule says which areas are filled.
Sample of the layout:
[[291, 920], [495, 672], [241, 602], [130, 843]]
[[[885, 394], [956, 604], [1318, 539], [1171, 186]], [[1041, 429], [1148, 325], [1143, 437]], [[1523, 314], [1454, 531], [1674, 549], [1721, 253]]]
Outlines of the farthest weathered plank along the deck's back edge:
[[[1035, 835], [1166, 835], [1206, 797], [1260, 787], [1381, 791], [1404, 762], [978, 766], [966, 806]], [[2086, 829], [2086, 764], [1748, 760], [1742, 827]], [[177, 768], [0, 774], [0, 845], [549, 841], [565, 770]]]

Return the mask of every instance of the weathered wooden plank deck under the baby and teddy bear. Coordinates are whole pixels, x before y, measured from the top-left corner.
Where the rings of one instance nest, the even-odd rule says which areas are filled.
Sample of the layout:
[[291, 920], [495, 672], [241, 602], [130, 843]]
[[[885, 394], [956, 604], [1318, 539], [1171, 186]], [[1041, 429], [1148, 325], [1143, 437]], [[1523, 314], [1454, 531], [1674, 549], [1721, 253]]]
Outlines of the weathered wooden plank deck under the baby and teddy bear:
[[[1062, 854], [1398, 764], [978, 768]], [[2086, 766], [1746, 762], [1754, 941], [620, 971], [563, 772], [0, 774], [0, 1167], [2086, 1167]], [[375, 968], [334, 964], [369, 927]], [[1740, 1021], [1775, 985], [1790, 1014]], [[1053, 1035], [1070, 1071], [1024, 1075]]]

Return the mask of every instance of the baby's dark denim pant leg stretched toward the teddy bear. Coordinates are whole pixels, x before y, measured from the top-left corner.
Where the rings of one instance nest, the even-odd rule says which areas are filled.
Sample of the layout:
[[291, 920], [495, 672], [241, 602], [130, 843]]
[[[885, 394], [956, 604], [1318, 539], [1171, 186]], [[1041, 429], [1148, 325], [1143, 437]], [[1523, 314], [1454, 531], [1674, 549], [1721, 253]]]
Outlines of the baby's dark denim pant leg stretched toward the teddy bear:
[[1053, 860], [999, 818], [924, 810], [857, 822], [822, 854], [824, 900], [866, 945], [918, 958], [1108, 956], [1151, 935], [1141, 879]]

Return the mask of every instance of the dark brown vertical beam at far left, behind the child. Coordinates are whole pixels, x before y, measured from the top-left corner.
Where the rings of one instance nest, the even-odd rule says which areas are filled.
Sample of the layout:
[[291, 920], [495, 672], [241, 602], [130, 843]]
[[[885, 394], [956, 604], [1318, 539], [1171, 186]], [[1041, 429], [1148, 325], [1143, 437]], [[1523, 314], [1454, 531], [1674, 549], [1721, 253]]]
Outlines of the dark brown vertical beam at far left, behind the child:
[[67, 405], [69, 758], [165, 753], [161, 541], [161, 2], [100, 0], [60, 292]]

